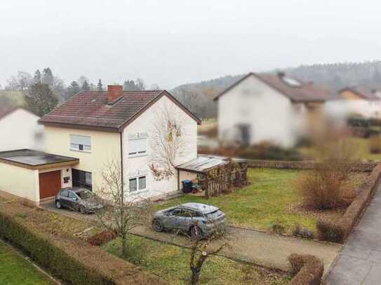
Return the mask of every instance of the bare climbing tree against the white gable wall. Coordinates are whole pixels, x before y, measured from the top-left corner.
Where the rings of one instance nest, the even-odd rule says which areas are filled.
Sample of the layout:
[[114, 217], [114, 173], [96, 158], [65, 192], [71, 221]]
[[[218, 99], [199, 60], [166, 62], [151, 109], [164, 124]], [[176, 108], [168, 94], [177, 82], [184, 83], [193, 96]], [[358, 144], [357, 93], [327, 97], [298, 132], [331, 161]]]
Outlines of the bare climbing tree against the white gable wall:
[[183, 120], [180, 110], [168, 104], [154, 114], [149, 168], [157, 181], [175, 176], [176, 163], [187, 153], [187, 130]]

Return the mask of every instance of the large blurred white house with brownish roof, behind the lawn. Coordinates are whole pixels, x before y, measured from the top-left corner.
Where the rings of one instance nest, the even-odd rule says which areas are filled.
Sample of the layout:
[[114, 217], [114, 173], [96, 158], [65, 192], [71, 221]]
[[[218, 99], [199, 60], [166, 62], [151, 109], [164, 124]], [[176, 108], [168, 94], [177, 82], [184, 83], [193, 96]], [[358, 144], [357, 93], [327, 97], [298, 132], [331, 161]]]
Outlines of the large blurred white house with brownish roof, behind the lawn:
[[330, 91], [283, 73], [250, 73], [215, 97], [218, 137], [225, 144], [293, 146], [332, 98]]

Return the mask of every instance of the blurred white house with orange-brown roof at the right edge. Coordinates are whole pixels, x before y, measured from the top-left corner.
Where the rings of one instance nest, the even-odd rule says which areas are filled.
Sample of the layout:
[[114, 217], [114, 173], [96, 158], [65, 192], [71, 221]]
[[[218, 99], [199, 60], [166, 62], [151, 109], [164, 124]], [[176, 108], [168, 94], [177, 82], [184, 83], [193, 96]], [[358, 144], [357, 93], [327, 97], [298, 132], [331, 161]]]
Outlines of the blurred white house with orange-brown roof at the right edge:
[[326, 111], [337, 118], [352, 114], [381, 118], [381, 92], [357, 87], [343, 88], [338, 91], [337, 99], [327, 104]]

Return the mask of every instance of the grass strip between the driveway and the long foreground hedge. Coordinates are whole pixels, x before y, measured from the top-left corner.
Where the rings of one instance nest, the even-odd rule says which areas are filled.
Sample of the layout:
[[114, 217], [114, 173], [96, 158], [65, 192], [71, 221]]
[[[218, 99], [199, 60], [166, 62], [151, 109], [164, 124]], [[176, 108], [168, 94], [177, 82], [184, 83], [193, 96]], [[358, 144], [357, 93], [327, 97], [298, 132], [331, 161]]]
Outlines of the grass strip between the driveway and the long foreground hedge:
[[[189, 278], [189, 249], [156, 242], [144, 237], [130, 236], [127, 260], [140, 265], [152, 274], [166, 279], [173, 285], [186, 285]], [[120, 240], [109, 242], [103, 249], [121, 257]], [[287, 284], [286, 274], [261, 267], [237, 263], [227, 258], [212, 256], [201, 271], [203, 285], [280, 285]]]

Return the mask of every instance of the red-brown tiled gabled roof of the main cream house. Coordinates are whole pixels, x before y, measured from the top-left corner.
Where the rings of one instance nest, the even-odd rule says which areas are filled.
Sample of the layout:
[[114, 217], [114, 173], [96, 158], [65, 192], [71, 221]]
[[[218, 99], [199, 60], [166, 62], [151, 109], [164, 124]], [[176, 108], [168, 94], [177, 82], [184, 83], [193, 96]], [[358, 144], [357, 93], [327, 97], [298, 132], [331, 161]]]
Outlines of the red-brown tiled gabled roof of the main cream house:
[[39, 120], [42, 125], [77, 129], [121, 132], [149, 106], [166, 96], [198, 124], [201, 120], [166, 90], [123, 91], [112, 105], [107, 104], [107, 91], [82, 91]]

